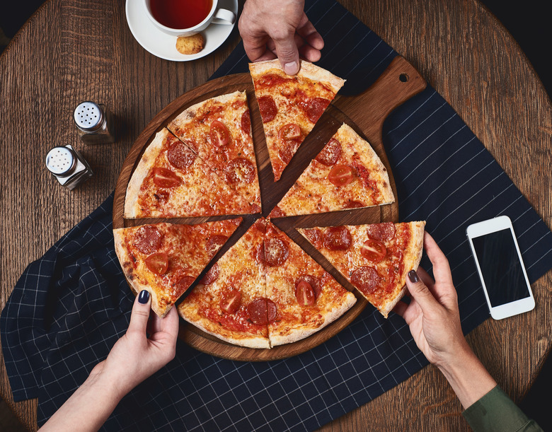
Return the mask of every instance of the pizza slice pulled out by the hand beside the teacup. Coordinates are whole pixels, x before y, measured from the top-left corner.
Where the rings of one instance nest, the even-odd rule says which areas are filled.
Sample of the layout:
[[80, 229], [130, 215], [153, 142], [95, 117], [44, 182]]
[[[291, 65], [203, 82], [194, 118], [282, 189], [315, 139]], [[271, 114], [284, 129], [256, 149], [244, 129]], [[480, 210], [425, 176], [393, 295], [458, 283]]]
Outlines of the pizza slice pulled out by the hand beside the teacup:
[[249, 71], [277, 181], [345, 80], [302, 60], [294, 76], [277, 59], [251, 63]]

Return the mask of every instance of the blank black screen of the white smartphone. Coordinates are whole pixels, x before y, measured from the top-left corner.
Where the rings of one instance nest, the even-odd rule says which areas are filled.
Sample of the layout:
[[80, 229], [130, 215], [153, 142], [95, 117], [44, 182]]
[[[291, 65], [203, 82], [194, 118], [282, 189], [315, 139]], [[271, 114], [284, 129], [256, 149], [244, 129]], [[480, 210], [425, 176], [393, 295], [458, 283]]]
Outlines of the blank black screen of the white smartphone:
[[510, 229], [474, 237], [472, 242], [493, 308], [529, 297]]

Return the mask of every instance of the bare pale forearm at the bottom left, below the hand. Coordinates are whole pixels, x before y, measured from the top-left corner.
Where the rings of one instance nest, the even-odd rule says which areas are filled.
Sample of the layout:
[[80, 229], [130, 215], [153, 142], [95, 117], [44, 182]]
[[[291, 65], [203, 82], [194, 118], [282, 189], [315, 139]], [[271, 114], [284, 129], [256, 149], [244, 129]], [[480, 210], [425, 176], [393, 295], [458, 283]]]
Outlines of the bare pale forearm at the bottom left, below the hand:
[[100, 363], [40, 431], [98, 431], [124, 396], [102, 371]]

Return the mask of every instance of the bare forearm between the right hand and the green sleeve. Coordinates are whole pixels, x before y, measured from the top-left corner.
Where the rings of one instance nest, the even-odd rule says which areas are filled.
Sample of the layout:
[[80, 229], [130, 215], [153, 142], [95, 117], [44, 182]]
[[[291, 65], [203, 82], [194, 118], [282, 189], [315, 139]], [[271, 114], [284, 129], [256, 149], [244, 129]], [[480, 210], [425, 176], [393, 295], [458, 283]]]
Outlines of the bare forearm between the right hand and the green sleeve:
[[438, 367], [464, 409], [477, 402], [497, 385], [468, 346], [451, 361]]

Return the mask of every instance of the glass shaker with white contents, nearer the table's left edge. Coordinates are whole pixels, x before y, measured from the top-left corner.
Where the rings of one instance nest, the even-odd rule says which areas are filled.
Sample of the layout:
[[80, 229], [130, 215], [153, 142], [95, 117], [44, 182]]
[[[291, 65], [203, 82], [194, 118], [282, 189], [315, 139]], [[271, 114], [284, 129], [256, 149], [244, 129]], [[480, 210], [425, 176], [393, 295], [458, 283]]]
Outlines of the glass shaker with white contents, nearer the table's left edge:
[[46, 155], [46, 168], [69, 190], [92, 177], [90, 165], [71, 144], [52, 148]]

